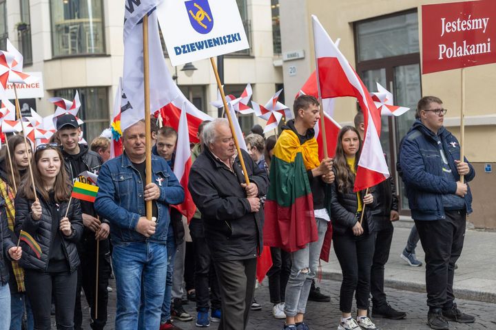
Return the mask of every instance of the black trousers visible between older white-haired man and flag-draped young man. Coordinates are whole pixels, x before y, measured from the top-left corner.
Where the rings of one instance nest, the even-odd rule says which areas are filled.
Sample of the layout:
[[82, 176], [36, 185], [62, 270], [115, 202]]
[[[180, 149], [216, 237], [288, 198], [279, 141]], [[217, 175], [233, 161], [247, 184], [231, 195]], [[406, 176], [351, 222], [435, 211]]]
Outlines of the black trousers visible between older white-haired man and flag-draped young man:
[[269, 295], [274, 305], [284, 303], [286, 285], [291, 274], [291, 254], [280, 248], [271, 248], [272, 267], [267, 272]]

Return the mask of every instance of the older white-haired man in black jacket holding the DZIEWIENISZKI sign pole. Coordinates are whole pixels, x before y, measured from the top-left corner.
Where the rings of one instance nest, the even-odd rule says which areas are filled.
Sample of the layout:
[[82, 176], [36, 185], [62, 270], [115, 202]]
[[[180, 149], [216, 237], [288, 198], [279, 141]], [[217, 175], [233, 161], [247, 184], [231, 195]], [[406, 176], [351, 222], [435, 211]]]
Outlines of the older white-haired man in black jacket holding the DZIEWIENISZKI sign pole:
[[216, 119], [203, 130], [205, 150], [189, 174], [189, 191], [202, 213], [222, 300], [218, 329], [246, 329], [254, 294], [256, 257], [262, 248], [263, 206], [269, 179], [242, 151], [245, 184], [229, 124]]

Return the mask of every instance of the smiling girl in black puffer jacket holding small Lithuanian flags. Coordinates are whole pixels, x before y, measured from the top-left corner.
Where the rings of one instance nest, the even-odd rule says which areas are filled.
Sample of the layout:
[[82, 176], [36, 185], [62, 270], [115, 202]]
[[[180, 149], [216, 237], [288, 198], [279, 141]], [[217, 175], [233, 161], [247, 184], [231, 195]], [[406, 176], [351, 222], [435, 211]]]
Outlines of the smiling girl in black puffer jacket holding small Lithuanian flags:
[[76, 269], [79, 265], [76, 242], [83, 232], [83, 220], [77, 199], [72, 199], [65, 217], [72, 186], [63, 166], [57, 144], [39, 145], [32, 159], [37, 199], [29, 175], [24, 177], [15, 199], [16, 233], [28, 232], [41, 247], [38, 258], [22, 243], [25, 253], [21, 265], [25, 269], [25, 286], [35, 329], [50, 329], [52, 292], [57, 329], [74, 329]]

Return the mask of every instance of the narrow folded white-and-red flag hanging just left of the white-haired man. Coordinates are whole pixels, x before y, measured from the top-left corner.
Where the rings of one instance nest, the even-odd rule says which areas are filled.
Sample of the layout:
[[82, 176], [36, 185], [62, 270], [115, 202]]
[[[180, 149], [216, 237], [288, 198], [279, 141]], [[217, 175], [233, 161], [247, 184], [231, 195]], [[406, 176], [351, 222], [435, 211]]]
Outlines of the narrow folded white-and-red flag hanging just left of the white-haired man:
[[[186, 108], [186, 102], [183, 102], [183, 109]], [[185, 200], [179, 205], [174, 205], [181, 214], [187, 217], [188, 223], [191, 221], [194, 212], [196, 211], [196, 206], [193, 202], [191, 193], [187, 188], [189, 181], [189, 170], [191, 170], [192, 159], [191, 159], [191, 149], [189, 148], [189, 131], [188, 123], [186, 118], [186, 111], [183, 110], [180, 113], [179, 124], [178, 124], [178, 140], [176, 144], [176, 159], [174, 161], [174, 175], [179, 180], [181, 186], [185, 190]]]

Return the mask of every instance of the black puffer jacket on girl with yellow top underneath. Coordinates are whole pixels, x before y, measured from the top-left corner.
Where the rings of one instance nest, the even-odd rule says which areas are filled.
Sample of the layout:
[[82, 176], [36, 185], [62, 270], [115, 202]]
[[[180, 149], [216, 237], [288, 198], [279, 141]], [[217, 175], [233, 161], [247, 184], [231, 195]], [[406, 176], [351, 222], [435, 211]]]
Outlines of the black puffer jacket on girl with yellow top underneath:
[[[335, 168], [333, 168], [334, 175], [337, 177]], [[329, 208], [331, 210], [331, 221], [333, 224], [333, 235], [351, 235], [353, 236], [353, 225], [357, 222], [355, 213], [358, 209], [358, 199], [356, 192], [353, 192], [353, 182], [348, 192], [342, 194], [338, 191], [338, 184], [334, 181], [331, 185], [331, 202]], [[365, 207], [364, 214], [364, 232], [373, 232], [375, 230], [375, 223], [371, 217], [371, 210], [377, 205], [377, 197], [375, 195], [375, 187], [369, 189], [372, 193], [374, 201]], [[360, 192], [360, 196], [365, 195], [365, 190]]]

